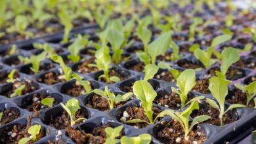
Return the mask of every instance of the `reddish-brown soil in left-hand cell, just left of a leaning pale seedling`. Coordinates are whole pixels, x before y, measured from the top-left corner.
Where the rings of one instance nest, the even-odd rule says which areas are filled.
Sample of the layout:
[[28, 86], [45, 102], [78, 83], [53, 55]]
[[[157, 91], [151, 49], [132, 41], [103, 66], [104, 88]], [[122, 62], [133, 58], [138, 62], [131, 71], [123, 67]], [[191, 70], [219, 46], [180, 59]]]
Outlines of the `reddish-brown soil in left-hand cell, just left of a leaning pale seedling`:
[[60, 75], [53, 72], [46, 73], [42, 79], [38, 79], [38, 82], [45, 83], [48, 85], [56, 84], [59, 82], [66, 82], [65, 79], [60, 77]]

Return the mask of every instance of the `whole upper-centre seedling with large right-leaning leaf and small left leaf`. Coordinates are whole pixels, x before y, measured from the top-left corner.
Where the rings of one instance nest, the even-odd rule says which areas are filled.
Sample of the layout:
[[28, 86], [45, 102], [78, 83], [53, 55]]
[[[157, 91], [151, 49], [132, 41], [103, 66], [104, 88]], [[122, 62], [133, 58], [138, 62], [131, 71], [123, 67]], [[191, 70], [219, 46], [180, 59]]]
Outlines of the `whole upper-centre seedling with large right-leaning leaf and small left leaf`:
[[139, 52], [137, 54], [139, 55], [140, 60], [145, 64], [155, 64], [156, 57], [161, 54], [165, 54], [169, 48], [170, 43], [171, 32], [163, 33], [160, 35], [160, 37], [158, 37], [158, 39], [148, 45], [147, 52]]

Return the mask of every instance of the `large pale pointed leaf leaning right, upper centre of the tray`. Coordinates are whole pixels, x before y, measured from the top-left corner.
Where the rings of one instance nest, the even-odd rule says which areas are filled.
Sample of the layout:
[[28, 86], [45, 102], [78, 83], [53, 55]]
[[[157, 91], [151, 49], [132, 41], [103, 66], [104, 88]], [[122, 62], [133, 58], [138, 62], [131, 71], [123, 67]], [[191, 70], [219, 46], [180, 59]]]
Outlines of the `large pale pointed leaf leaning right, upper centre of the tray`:
[[171, 43], [171, 32], [167, 32], [160, 35], [158, 39], [156, 39], [155, 41], [150, 43], [150, 45], [148, 45], [148, 54], [151, 57], [152, 64], [156, 63], [157, 56], [161, 54], [165, 54], [165, 52], [169, 48], [170, 43]]

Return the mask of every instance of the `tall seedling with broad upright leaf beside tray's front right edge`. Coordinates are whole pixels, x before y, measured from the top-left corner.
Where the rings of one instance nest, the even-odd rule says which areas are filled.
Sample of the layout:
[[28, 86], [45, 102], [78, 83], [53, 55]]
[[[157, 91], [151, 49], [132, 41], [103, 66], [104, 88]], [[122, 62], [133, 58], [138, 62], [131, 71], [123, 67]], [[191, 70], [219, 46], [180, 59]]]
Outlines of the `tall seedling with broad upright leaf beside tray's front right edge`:
[[238, 108], [238, 107], [245, 107], [245, 105], [240, 104], [232, 104], [229, 105], [228, 109], [225, 111], [225, 98], [228, 94], [228, 84], [230, 81], [227, 81], [226, 79], [222, 79], [219, 77], [211, 77], [209, 79], [209, 90], [211, 94], [213, 95], [213, 98], [217, 100], [218, 103], [213, 101], [213, 99], [207, 98], [206, 101], [213, 107], [214, 109], [219, 110], [219, 118], [221, 120], [221, 126], [223, 125], [223, 115], [230, 111], [231, 109]]

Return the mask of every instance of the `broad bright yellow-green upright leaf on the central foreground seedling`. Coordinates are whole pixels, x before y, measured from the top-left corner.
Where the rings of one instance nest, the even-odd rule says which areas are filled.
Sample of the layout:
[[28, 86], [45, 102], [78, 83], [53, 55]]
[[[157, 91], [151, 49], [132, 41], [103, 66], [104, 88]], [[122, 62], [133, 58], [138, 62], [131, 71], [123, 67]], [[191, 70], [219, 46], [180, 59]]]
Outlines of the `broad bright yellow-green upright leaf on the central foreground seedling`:
[[149, 82], [140, 80], [136, 81], [133, 85], [133, 93], [136, 95], [137, 99], [141, 101], [145, 115], [150, 120], [150, 123], [152, 123], [152, 103], [157, 95], [154, 88], [152, 88]]

